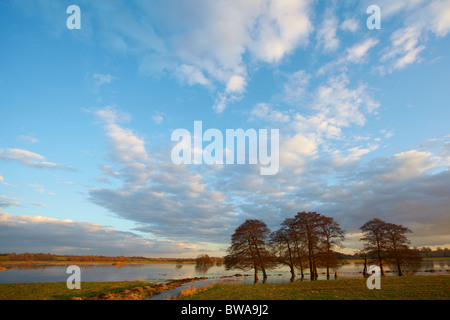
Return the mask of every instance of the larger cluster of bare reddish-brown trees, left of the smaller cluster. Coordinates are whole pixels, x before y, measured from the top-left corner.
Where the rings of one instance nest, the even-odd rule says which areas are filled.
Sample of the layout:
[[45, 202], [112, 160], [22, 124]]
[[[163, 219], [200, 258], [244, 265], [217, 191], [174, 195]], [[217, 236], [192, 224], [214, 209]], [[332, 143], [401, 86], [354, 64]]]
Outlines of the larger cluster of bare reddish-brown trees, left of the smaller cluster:
[[331, 217], [316, 212], [299, 212], [294, 218], [287, 218], [281, 228], [271, 232], [261, 220], [247, 220], [231, 237], [231, 246], [225, 257], [227, 269], [254, 269], [255, 281], [258, 271], [267, 279], [267, 270], [279, 264], [287, 265], [291, 280], [295, 269], [301, 277], [309, 269], [311, 280], [318, 277], [317, 268], [327, 270], [338, 263], [335, 249], [341, 246], [344, 231]]

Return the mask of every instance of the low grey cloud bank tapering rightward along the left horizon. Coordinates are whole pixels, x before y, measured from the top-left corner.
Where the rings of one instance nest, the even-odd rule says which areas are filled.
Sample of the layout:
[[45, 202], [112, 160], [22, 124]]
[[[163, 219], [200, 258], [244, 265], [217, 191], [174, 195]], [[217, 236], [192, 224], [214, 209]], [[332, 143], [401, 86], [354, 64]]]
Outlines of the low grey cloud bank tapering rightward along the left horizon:
[[90, 222], [0, 212], [2, 252], [150, 256], [196, 250], [190, 243], [144, 238]]

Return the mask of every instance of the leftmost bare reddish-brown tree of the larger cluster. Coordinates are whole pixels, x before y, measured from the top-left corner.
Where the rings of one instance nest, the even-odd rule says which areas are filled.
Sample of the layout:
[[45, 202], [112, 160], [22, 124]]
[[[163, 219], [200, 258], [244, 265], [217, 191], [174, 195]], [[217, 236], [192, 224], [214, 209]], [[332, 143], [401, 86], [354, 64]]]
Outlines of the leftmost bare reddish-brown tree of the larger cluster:
[[225, 268], [255, 270], [255, 282], [258, 281], [258, 270], [263, 273], [263, 281], [267, 279], [266, 270], [275, 266], [266, 241], [270, 235], [267, 225], [261, 220], [246, 220], [231, 236], [231, 246], [225, 256]]

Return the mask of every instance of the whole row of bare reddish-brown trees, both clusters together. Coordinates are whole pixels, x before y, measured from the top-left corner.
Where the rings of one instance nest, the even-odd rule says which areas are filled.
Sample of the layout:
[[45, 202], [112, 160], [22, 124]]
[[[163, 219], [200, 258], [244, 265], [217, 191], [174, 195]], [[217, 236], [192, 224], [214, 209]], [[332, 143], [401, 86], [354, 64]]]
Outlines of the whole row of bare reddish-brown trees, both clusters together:
[[[366, 258], [376, 261], [384, 275], [383, 264], [389, 263], [397, 267], [402, 275], [402, 265], [419, 260], [420, 257], [409, 248], [406, 227], [387, 223], [380, 219], [366, 222], [362, 227]], [[330, 270], [339, 263], [344, 231], [333, 218], [316, 212], [299, 212], [293, 218], [285, 219], [281, 227], [271, 232], [262, 220], [246, 220], [231, 236], [231, 246], [225, 256], [227, 270], [254, 270], [255, 282], [258, 272], [263, 274], [263, 282], [267, 279], [267, 270], [278, 265], [289, 266], [291, 281], [296, 270], [301, 278], [309, 271], [311, 280], [317, 280], [318, 268], [326, 269], [327, 279]], [[367, 264], [365, 264], [366, 270]]]

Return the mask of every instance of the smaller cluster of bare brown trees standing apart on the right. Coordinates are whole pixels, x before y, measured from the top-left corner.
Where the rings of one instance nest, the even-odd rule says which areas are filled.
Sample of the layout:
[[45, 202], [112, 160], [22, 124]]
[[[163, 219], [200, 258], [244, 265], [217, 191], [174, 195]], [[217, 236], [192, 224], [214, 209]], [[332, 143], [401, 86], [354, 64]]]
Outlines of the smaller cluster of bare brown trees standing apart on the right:
[[385, 275], [385, 263], [394, 265], [398, 275], [401, 276], [403, 275], [402, 266], [421, 260], [420, 255], [409, 247], [411, 242], [406, 234], [412, 232], [410, 229], [378, 218], [366, 222], [360, 229], [364, 233], [360, 239], [364, 241], [362, 253], [365, 257], [377, 261], [382, 276]]

